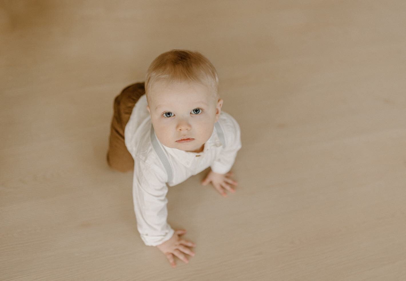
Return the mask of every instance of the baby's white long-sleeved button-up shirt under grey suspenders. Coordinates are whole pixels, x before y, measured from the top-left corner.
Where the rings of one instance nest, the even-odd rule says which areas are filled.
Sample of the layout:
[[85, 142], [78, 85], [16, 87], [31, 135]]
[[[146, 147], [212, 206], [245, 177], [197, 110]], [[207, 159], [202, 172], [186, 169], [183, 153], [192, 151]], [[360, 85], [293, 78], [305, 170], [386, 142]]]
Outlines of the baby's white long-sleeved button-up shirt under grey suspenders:
[[169, 186], [177, 185], [208, 167], [219, 174], [226, 174], [231, 170], [241, 148], [240, 126], [224, 111], [220, 113], [218, 123], [224, 132], [225, 148], [217, 136], [216, 127], [203, 151], [199, 153], [166, 147], [158, 140], [173, 170], [173, 178], [168, 182], [164, 165], [151, 143], [151, 115], [147, 110], [145, 94], [135, 104], [125, 126], [124, 140], [127, 150], [134, 158], [134, 212], [137, 229], [145, 245], [160, 245], [169, 240], [175, 232], [166, 221], [166, 183]]

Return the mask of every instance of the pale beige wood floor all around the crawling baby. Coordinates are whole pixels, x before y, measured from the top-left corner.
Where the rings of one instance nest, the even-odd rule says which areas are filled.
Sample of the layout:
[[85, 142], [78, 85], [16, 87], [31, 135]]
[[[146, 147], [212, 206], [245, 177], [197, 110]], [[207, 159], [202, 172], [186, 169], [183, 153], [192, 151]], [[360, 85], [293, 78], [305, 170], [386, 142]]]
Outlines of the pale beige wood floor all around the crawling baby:
[[[2, 1], [1, 280], [406, 279], [406, 2]], [[170, 188], [169, 266], [106, 164], [112, 102], [201, 51], [242, 149], [227, 198]]]

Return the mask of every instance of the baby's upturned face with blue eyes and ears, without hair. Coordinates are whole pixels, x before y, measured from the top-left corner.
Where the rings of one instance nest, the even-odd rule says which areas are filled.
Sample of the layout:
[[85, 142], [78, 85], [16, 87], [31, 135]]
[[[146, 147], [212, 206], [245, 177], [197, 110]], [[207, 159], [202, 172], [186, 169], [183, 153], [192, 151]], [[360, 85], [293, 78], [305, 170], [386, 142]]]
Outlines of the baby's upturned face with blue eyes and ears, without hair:
[[[197, 83], [167, 85], [158, 81], [148, 93], [147, 110], [162, 145], [201, 152], [212, 136], [223, 100], [216, 100], [208, 87]], [[189, 138], [187, 142], [179, 141]]]

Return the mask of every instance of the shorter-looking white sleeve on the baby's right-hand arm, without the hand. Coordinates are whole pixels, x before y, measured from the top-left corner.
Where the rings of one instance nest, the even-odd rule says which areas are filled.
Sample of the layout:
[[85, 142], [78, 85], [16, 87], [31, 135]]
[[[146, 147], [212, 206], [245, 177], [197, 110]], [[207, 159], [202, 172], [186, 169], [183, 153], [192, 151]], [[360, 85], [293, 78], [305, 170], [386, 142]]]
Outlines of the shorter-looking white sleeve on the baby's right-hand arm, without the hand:
[[210, 168], [218, 174], [226, 174], [231, 170], [237, 157], [237, 152], [241, 149], [241, 130], [237, 121], [231, 115], [225, 114], [225, 119], [221, 126], [224, 130], [226, 147], [218, 155]]

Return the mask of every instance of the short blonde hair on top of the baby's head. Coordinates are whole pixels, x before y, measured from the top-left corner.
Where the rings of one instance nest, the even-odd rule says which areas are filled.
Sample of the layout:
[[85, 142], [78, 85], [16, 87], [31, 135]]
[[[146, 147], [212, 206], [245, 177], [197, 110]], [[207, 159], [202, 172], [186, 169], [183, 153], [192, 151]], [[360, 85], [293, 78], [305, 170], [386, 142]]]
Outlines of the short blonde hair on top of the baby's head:
[[[145, 93], [150, 101], [149, 92], [157, 81], [166, 83], [192, 82], [208, 86], [218, 100], [218, 76], [212, 63], [198, 51], [172, 49], [158, 55], [153, 60], [145, 76]], [[149, 102], [148, 102], [149, 103]]]

